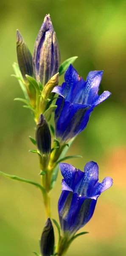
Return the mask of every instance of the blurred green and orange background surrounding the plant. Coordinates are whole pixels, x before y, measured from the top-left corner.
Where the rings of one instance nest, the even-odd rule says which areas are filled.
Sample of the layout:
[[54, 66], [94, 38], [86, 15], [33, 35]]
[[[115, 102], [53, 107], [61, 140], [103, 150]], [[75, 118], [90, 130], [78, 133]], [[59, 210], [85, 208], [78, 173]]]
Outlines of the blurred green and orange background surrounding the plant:
[[[39, 181], [39, 165], [28, 136], [34, 137], [30, 111], [14, 98], [23, 97], [12, 63], [16, 29], [29, 49], [46, 14], [50, 13], [59, 41], [61, 62], [78, 56], [74, 67], [86, 79], [90, 70], [104, 70], [102, 86], [112, 96], [92, 113], [90, 122], [68, 154], [83, 170], [97, 161], [100, 180], [111, 176], [114, 185], [98, 199], [90, 233], [71, 245], [67, 256], [126, 255], [126, 0], [2, 0], [0, 2], [0, 170]], [[60, 79], [60, 84], [63, 76]], [[61, 175], [51, 194], [52, 217], [58, 220]], [[0, 256], [31, 256], [39, 252], [45, 224], [42, 195], [34, 186], [0, 177]], [[57, 230], [56, 237], [57, 237]]]

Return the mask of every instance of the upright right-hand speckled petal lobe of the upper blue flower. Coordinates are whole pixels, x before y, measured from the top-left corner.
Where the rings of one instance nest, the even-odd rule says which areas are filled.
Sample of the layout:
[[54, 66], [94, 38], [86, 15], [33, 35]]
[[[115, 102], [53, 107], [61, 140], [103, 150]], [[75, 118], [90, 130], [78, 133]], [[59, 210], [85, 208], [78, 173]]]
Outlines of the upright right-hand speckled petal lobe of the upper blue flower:
[[98, 99], [98, 89], [101, 82], [103, 71], [91, 71], [87, 76], [86, 86], [84, 88], [83, 104], [92, 105]]

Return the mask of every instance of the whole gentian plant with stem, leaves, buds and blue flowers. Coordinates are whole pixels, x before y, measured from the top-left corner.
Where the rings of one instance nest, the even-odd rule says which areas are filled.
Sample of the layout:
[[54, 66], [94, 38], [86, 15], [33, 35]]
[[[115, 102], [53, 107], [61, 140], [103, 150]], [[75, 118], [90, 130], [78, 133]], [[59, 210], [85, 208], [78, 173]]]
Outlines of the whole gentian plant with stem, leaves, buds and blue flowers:
[[[75, 236], [76, 232], [90, 221], [98, 197], [112, 186], [110, 177], [99, 183], [98, 165], [95, 162], [88, 162], [84, 172], [62, 163], [68, 158], [78, 157], [65, 157], [65, 154], [73, 138], [86, 128], [93, 109], [111, 95], [109, 91], [98, 95], [103, 71], [91, 71], [84, 81], [72, 66], [75, 59], [71, 57], [59, 66], [59, 46], [50, 15], [45, 15], [34, 44], [33, 56], [17, 30], [18, 64], [14, 64], [14, 70], [25, 99], [16, 100], [25, 103], [25, 107], [34, 115], [36, 139], [30, 137], [30, 140], [36, 150], [30, 151], [39, 156], [41, 183], [3, 172], [0, 174], [33, 184], [41, 190], [47, 219], [40, 241], [42, 256], [64, 255], [70, 243], [82, 234]], [[64, 82], [59, 86], [59, 76], [63, 73]], [[54, 101], [56, 93], [58, 98], [56, 96]], [[49, 124], [53, 112], [55, 128]], [[55, 247], [49, 192], [56, 183], [59, 167], [63, 180], [58, 202], [60, 227], [53, 220], [59, 232], [59, 241]]]

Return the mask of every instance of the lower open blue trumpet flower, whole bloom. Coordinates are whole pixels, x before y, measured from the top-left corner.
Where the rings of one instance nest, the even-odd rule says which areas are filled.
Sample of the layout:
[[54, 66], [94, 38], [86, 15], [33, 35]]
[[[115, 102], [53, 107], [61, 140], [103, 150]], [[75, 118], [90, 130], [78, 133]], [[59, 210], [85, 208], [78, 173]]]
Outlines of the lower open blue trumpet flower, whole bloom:
[[59, 198], [59, 220], [63, 236], [72, 237], [90, 221], [97, 199], [102, 192], [112, 186], [112, 178], [98, 182], [98, 165], [88, 162], [84, 172], [67, 163], [60, 163], [62, 194]]

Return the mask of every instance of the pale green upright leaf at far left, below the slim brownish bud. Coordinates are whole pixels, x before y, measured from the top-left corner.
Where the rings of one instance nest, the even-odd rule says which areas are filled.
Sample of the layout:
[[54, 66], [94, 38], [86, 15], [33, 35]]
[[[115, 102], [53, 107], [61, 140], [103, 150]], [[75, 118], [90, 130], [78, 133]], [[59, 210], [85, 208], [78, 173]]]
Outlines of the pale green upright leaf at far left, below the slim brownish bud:
[[19, 68], [19, 66], [16, 62], [14, 62], [13, 68], [14, 68], [14, 72], [17, 76], [17, 79], [19, 79], [19, 84], [20, 84], [20, 87], [21, 87], [21, 89], [22, 89], [22, 91], [25, 95], [25, 99], [27, 99], [27, 101], [30, 102], [29, 97], [28, 97], [28, 93], [27, 93], [27, 89], [25, 87], [25, 84], [23, 83], [23, 77], [22, 77], [22, 74], [20, 72], [20, 68]]

